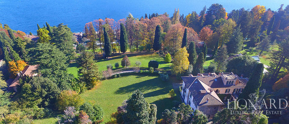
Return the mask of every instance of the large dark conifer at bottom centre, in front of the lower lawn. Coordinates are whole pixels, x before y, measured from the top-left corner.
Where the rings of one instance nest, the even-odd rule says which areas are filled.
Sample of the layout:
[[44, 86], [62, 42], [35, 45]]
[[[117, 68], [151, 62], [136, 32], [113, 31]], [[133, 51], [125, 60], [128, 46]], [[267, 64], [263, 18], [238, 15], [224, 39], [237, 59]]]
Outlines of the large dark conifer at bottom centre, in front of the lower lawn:
[[126, 113], [123, 116], [124, 123], [148, 124], [150, 119], [148, 109], [144, 94], [138, 89], [135, 90], [127, 101]]

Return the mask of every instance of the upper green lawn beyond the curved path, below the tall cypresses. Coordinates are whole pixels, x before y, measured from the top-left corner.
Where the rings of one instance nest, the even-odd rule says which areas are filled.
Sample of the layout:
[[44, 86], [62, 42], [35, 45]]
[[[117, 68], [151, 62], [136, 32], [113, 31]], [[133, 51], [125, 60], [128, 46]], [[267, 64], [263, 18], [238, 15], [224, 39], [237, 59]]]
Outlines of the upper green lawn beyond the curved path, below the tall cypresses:
[[[139, 55], [139, 56], [129, 56], [128, 58], [129, 58], [129, 61], [131, 63], [131, 67], [135, 65], [136, 61], [141, 62], [140, 67], [148, 67], [148, 62], [150, 60], [153, 60], [153, 59], [157, 60], [159, 62], [159, 68], [169, 69], [169, 65], [172, 64], [172, 63], [164, 62], [163, 57], [157, 53], [151, 53], [151, 54]], [[122, 59], [123, 59], [123, 56], [114, 56], [114, 57], [109, 58], [108, 60], [107, 59], [98, 60], [98, 62], [96, 62], [96, 64], [99, 66], [98, 69], [100, 71], [107, 70], [106, 65], [108, 65], [108, 64], [113, 65], [113, 70], [114, 70], [114, 69], [117, 69], [114, 67], [114, 64], [117, 62], [119, 63], [120, 67], [122, 67], [121, 66], [121, 60]], [[67, 69], [68, 73], [73, 74], [74, 77], [77, 77], [78, 68], [76, 68], [76, 66], [77, 66], [77, 64], [75, 62], [70, 63], [69, 68]]]

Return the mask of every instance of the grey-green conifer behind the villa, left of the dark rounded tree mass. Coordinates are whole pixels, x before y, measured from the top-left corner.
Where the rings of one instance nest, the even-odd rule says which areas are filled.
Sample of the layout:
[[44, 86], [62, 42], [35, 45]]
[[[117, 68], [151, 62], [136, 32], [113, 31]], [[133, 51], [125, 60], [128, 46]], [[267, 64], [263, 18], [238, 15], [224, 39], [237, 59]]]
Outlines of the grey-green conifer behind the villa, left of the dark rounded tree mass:
[[218, 53], [216, 54], [216, 57], [214, 59], [214, 64], [216, 64], [216, 71], [222, 71], [225, 70], [227, 65], [227, 47], [224, 45], [223, 47], [220, 47], [218, 50]]

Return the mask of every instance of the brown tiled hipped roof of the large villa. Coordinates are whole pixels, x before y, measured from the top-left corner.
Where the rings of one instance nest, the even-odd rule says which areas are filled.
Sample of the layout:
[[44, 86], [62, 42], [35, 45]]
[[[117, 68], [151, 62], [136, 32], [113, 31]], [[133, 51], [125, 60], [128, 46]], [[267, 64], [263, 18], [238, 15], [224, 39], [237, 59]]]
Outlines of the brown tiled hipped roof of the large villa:
[[[235, 84], [224, 85], [223, 78], [238, 80]], [[218, 97], [213, 88], [246, 86], [248, 79], [239, 77], [233, 73], [203, 73], [197, 76], [183, 76], [182, 80], [189, 89], [198, 106], [222, 105], [222, 100]]]

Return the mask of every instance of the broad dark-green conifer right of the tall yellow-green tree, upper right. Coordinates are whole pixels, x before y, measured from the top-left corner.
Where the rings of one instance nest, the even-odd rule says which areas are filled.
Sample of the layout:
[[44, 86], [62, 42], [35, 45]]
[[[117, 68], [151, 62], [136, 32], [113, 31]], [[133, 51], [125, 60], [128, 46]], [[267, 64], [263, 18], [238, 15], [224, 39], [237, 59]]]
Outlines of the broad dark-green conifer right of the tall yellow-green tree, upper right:
[[230, 41], [226, 43], [228, 46], [228, 53], [239, 53], [242, 50], [242, 43], [243, 35], [240, 26], [238, 26], [238, 28], [233, 32]]

